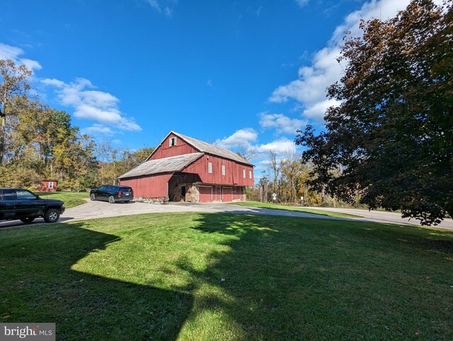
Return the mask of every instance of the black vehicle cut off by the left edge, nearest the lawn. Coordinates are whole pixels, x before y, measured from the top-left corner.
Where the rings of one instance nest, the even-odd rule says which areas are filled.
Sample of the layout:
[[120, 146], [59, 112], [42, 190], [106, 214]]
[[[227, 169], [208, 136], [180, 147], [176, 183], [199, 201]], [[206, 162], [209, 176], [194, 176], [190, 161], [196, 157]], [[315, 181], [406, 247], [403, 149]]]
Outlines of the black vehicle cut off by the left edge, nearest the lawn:
[[0, 188], [0, 220], [21, 220], [30, 224], [42, 216], [46, 223], [55, 223], [63, 212], [61, 200], [41, 199], [21, 188]]

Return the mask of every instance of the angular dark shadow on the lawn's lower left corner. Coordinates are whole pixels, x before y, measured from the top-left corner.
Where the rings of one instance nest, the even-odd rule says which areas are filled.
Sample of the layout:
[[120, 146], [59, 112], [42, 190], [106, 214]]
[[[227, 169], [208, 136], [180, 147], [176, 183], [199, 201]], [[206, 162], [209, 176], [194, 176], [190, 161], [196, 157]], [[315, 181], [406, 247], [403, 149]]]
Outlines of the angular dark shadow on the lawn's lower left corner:
[[[175, 340], [192, 296], [71, 270], [88, 253], [120, 241], [83, 227], [28, 226], [28, 235], [16, 230], [21, 238], [0, 250], [0, 263], [9, 260], [0, 267], [1, 322], [57, 323], [57, 340]], [[58, 229], [57, 239], [47, 238], [46, 229]]]

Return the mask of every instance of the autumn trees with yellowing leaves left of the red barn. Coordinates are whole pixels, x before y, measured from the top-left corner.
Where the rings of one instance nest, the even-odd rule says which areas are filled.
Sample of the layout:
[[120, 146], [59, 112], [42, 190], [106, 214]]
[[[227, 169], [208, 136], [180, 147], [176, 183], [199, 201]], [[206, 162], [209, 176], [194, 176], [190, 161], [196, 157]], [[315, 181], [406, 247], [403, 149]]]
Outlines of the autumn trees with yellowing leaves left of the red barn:
[[24, 65], [0, 60], [0, 187], [33, 190], [44, 179], [57, 180], [61, 190], [115, 184], [151, 154], [82, 134], [67, 112], [30, 96], [30, 76]]

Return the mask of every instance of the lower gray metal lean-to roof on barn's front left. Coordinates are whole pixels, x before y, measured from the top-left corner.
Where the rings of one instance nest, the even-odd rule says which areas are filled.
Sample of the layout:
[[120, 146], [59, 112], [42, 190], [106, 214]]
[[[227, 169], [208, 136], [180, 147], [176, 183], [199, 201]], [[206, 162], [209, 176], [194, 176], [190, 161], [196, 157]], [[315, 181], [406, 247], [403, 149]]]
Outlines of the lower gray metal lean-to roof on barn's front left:
[[118, 178], [122, 179], [140, 175], [180, 172], [202, 155], [203, 153], [193, 153], [146, 161]]

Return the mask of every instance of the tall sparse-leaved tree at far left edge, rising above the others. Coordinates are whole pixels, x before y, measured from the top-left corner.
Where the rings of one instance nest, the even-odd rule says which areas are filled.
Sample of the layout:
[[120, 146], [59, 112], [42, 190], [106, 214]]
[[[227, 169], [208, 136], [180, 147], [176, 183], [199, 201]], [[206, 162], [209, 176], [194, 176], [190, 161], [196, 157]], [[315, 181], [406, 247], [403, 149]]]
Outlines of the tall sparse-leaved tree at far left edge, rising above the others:
[[13, 115], [13, 100], [16, 96], [25, 96], [30, 85], [28, 77], [31, 71], [25, 65], [17, 66], [10, 59], [0, 59], [0, 164], [4, 160], [8, 118]]

